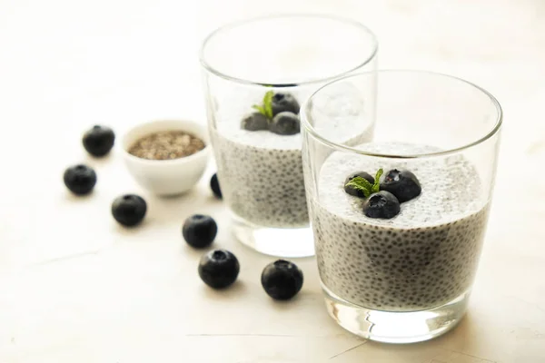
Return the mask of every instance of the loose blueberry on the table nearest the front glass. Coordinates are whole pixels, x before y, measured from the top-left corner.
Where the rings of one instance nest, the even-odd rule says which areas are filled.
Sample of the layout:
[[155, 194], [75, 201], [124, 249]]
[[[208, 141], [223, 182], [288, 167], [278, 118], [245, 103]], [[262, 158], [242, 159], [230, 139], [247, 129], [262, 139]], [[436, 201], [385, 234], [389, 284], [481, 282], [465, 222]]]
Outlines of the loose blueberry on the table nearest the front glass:
[[262, 286], [272, 299], [292, 299], [302, 288], [302, 270], [290, 261], [276, 260], [263, 269]]

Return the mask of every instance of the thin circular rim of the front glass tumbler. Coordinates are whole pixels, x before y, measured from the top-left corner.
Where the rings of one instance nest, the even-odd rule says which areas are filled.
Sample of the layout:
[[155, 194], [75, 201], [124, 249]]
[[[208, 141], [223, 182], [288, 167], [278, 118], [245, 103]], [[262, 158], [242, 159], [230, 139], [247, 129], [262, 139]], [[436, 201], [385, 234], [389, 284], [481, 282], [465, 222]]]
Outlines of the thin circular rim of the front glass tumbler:
[[[310, 111], [309, 108], [310, 108], [310, 105], [312, 103], [312, 98], [314, 98], [314, 96], [316, 94], [321, 93], [324, 88], [327, 88], [327, 87], [331, 86], [332, 84], [339, 83], [339, 82], [342, 82], [342, 81], [347, 80], [347, 79], [360, 77], [362, 75], [385, 74], [385, 73], [428, 74], [428, 75], [448, 78], [448, 79], [451, 79], [451, 80], [461, 81], [462, 83], [465, 83], [465, 84], [471, 86], [472, 88], [480, 91], [481, 93], [483, 93], [483, 94], [485, 94], [486, 96], [489, 97], [490, 102], [492, 103], [492, 105], [495, 108], [496, 113], [497, 113], [496, 120], [495, 120], [493, 126], [490, 128], [489, 132], [486, 132], [483, 136], [479, 137], [477, 140], [475, 140], [473, 142], [466, 143], [466, 144], [464, 144], [462, 146], [459, 146], [459, 147], [450, 148], [448, 150], [442, 150], [440, 152], [421, 152], [421, 153], [414, 153], [414, 154], [407, 154], [407, 155], [399, 155], [399, 154], [395, 154], [395, 153], [384, 153], [384, 152], [366, 152], [364, 150], [356, 149], [356, 148], [354, 148], [352, 146], [347, 146], [347, 145], [344, 145], [344, 144], [339, 143], [339, 142], [332, 142], [331, 140], [328, 140], [327, 138], [323, 137], [319, 132], [317, 132], [314, 129], [312, 124], [309, 123], [309, 111]], [[339, 151], [344, 151], [344, 152], [358, 153], [358, 154], [365, 155], [365, 156], [373, 156], [373, 157], [381, 157], [381, 158], [419, 159], [419, 158], [442, 156], [442, 155], [448, 155], [448, 154], [451, 154], [451, 153], [461, 152], [463, 150], [471, 148], [472, 146], [476, 146], [476, 145], [481, 144], [482, 142], [486, 142], [492, 136], [494, 136], [496, 133], [498, 133], [500, 131], [501, 124], [503, 123], [503, 111], [502, 111], [501, 105], [498, 102], [498, 100], [496, 99], [496, 97], [494, 97], [490, 92], [488, 92], [487, 90], [485, 90], [481, 86], [478, 86], [475, 83], [471, 83], [469, 81], [466, 81], [466, 80], [464, 80], [464, 79], [462, 79], [460, 77], [456, 77], [456, 76], [453, 76], [453, 75], [450, 75], [450, 74], [441, 74], [441, 73], [437, 73], [437, 72], [431, 72], [431, 71], [421, 71], [421, 70], [411, 70], [411, 69], [385, 69], [385, 70], [378, 70], [378, 71], [360, 72], [360, 73], [357, 73], [357, 74], [348, 74], [348, 75], [345, 75], [345, 76], [343, 76], [341, 78], [335, 79], [330, 83], [326, 83], [326, 84], [322, 85], [322, 87], [320, 87], [316, 91], [314, 91], [305, 100], [305, 102], [302, 104], [300, 119], [301, 119], [302, 126], [303, 126], [303, 128], [305, 129], [306, 132], [309, 132], [312, 135], [312, 137], [319, 140], [320, 142], [323, 142], [324, 144], [328, 145], [329, 147], [331, 147], [333, 149], [336, 149], [336, 150], [339, 150]]]

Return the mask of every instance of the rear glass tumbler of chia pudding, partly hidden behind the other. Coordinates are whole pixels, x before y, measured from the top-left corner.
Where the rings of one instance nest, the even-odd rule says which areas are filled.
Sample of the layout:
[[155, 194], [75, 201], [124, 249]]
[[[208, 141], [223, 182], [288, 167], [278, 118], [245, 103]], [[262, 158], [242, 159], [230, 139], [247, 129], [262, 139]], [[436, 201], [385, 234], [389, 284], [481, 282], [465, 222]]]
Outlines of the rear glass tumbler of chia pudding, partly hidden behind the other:
[[[314, 254], [300, 105], [324, 83], [374, 70], [376, 53], [365, 26], [321, 15], [247, 20], [206, 38], [201, 63], [209, 131], [233, 232], [245, 245], [282, 257]], [[361, 142], [371, 132], [345, 129], [342, 136]]]

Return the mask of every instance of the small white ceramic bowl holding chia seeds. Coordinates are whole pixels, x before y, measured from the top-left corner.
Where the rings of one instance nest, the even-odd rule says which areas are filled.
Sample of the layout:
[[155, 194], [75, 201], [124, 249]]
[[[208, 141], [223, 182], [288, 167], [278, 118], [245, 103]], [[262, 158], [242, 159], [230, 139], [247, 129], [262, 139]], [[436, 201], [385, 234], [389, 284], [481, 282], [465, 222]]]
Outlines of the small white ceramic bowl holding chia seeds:
[[[145, 135], [153, 132], [175, 131], [193, 133], [203, 140], [204, 149], [172, 160], [148, 160], [130, 154], [129, 148]], [[205, 126], [183, 120], [157, 120], [141, 123], [124, 134], [122, 139], [124, 162], [136, 182], [157, 195], [175, 195], [189, 191], [203, 177], [210, 155], [210, 142]]]

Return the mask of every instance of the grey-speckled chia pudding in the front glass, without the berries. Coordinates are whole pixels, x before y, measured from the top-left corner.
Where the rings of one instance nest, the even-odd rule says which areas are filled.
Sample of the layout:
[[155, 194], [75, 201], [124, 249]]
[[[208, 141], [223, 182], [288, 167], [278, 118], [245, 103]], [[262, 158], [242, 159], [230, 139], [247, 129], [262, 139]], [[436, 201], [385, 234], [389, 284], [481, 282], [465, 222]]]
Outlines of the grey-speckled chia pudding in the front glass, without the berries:
[[[421, 153], [436, 148], [366, 144], [374, 152]], [[353, 172], [410, 170], [421, 194], [391, 219], [372, 219], [362, 199], [343, 190]], [[383, 161], [333, 152], [323, 163], [318, 199], [310, 197], [322, 284], [368, 309], [431, 309], [471, 287], [488, 219], [489, 201], [474, 166], [462, 155]], [[316, 193], [314, 193], [315, 195]]]

